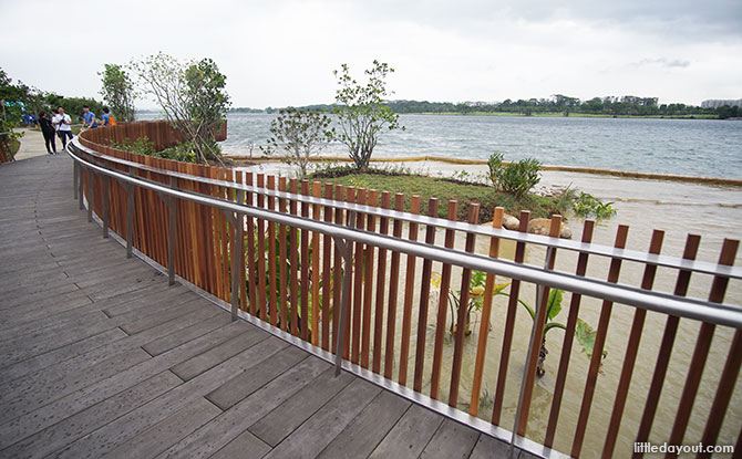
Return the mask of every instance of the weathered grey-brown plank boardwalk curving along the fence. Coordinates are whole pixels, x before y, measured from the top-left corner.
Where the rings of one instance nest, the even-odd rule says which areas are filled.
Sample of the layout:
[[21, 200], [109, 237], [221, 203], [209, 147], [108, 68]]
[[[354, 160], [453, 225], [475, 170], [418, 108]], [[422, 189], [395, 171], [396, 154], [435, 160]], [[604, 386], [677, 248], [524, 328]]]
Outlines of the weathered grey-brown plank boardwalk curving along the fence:
[[168, 286], [87, 222], [71, 170], [0, 166], [0, 457], [507, 456]]

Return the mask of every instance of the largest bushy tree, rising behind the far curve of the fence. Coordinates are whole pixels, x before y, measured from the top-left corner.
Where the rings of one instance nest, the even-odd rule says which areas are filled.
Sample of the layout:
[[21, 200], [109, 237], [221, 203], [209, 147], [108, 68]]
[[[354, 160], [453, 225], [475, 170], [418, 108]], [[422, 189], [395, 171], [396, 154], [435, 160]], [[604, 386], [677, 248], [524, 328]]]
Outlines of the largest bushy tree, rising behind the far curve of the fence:
[[140, 86], [159, 104], [165, 116], [181, 135], [193, 144], [198, 161], [221, 160], [214, 133], [229, 106], [225, 91], [226, 76], [210, 59], [182, 64], [159, 52], [133, 61], [131, 67]]

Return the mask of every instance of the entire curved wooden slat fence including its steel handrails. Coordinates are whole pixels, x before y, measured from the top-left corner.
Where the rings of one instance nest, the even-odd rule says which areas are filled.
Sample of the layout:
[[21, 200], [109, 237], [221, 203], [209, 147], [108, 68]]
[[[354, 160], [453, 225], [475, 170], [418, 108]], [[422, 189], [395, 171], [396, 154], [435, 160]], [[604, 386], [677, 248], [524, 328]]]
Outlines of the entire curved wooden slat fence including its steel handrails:
[[[403, 212], [400, 194], [184, 164], [110, 146], [143, 136], [157, 149], [177, 140], [166, 123], [150, 122], [89, 131], [71, 145], [80, 207], [84, 196], [92, 202], [89, 218], [101, 219], [104, 234], [114, 231], [130, 254], [136, 249], [166, 268], [171, 283], [177, 277], [229, 304], [234, 319], [290, 336], [326, 358], [333, 353], [338, 371], [539, 456], [558, 456], [557, 450], [624, 456], [630, 442], [649, 440], [739, 444], [742, 414], [732, 400], [740, 399], [742, 307], [724, 303], [730, 283], [742, 279], [732, 265], [739, 241], [725, 240], [719, 262], [709, 263], [695, 261], [700, 238], [693, 234], [682, 255], [671, 257], [660, 254], [662, 231], [640, 252], [627, 249], [628, 227], [619, 226], [610, 248], [591, 243], [590, 220], [579, 242], [567, 241], [556, 237], [558, 216], [552, 218], [553, 237], [534, 236], [525, 232], [525, 211], [521, 231], [506, 231], [502, 209], [492, 228], [482, 227], [474, 225], [476, 205], [468, 222], [456, 222], [436, 217], [434, 199], [429, 216], [421, 216], [416, 196], [410, 198], [412, 211]], [[457, 204], [446, 205], [455, 216]], [[484, 253], [477, 253], [477, 240], [488, 246]], [[511, 260], [501, 257], [507, 244], [514, 247]], [[528, 263], [542, 253], [540, 261]], [[576, 269], [556, 264], [557, 253]], [[588, 263], [602, 265], [602, 277], [590, 273]], [[640, 273], [639, 284], [620, 282], [627, 264]], [[674, 289], [655, 289], [658, 270], [674, 279]], [[484, 292], [472, 289], [475, 271], [486, 273]], [[687, 296], [697, 278], [710, 284], [703, 299]], [[496, 296], [503, 300], [498, 304], [493, 293], [506, 282], [508, 296]], [[536, 286], [534, 295], [527, 285]], [[544, 403], [537, 367], [555, 289], [569, 299], [569, 311]], [[467, 309], [451, 307], [452, 292], [460, 304], [482, 295], [481, 325], [472, 336], [464, 325]], [[526, 328], [524, 310], [518, 314], [524, 298], [535, 305]], [[587, 364], [571, 338], [580, 309], [597, 317]], [[608, 377], [606, 343], [619, 312], [622, 326], [611, 333], [622, 336], [621, 355], [611, 348]], [[689, 326], [692, 357], [677, 362], [673, 355], [691, 354], [677, 337]], [[658, 345], [645, 353], [648, 336]], [[712, 350], [714, 340], [721, 350], [715, 343]], [[668, 373], [678, 368], [686, 375], [681, 393], [668, 394]], [[656, 423], [662, 411], [670, 417]]]

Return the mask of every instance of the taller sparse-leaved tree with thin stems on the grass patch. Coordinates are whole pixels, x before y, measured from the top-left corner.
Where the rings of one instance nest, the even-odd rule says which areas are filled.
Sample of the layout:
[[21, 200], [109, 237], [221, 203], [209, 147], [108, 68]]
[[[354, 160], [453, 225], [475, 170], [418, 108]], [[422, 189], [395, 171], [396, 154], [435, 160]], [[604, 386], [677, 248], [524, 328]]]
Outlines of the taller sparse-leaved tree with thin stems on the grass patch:
[[394, 72], [387, 63], [373, 61], [365, 71], [368, 82], [358, 83], [350, 76], [348, 64], [342, 64], [334, 76], [340, 86], [336, 93], [334, 113], [340, 131], [334, 138], [348, 146], [355, 167], [369, 166], [373, 148], [383, 131], [402, 128], [399, 116], [383, 105], [383, 98], [392, 93], [387, 91], [387, 75]]

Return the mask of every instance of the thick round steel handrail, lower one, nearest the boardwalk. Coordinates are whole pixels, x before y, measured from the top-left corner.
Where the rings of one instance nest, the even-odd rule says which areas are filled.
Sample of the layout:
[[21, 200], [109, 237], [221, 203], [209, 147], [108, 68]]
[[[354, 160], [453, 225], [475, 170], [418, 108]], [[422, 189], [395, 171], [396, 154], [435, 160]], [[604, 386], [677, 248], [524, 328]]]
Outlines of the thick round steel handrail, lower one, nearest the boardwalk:
[[[69, 152], [69, 154], [74, 160], [84, 163], [83, 159], [74, 153]], [[272, 221], [275, 223], [286, 225], [307, 231], [330, 234], [347, 241], [361, 242], [364, 244], [394, 250], [414, 257], [440, 261], [446, 264], [484, 271], [509, 279], [517, 279], [525, 282], [535, 283], [538, 285], [561, 289], [565, 291], [580, 293], [583, 295], [612, 301], [616, 303], [628, 304], [650, 311], [677, 315], [680, 317], [710, 322], [718, 325], [742, 328], [742, 309], [731, 304], [711, 303], [702, 300], [678, 298], [667, 293], [630, 288], [628, 285], [610, 283], [607, 281], [586, 279], [578, 275], [555, 271], [545, 271], [542, 268], [515, 263], [508, 260], [487, 258], [480, 254], [467, 253], [454, 249], [445, 249], [422, 242], [412, 242], [405, 239], [396, 239], [391, 236], [382, 236], [358, 229], [350, 229], [346, 226], [328, 223], [290, 213], [282, 213], [254, 206], [240, 205], [190, 191], [173, 189], [164, 185], [145, 181], [138, 177], [122, 174], [117, 170], [106, 169], [91, 163], [84, 163], [83, 167], [115, 178], [120, 182], [131, 184], [150, 189], [159, 195], [171, 196], [173, 198], [214, 207], [227, 212], [236, 212], [239, 215]], [[719, 275], [724, 274], [720, 273]]]

